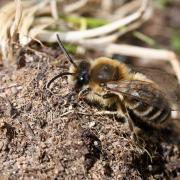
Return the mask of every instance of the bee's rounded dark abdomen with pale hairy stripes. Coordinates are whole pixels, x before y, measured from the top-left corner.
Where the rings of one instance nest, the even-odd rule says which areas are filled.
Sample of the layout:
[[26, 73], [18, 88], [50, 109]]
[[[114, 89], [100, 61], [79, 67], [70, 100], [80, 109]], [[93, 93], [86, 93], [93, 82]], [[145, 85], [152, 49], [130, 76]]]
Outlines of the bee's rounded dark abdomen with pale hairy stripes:
[[[162, 92], [153, 86], [140, 84], [128, 90], [125, 102], [133, 121], [160, 125], [171, 115], [171, 108]], [[132, 96], [131, 96], [132, 95]]]

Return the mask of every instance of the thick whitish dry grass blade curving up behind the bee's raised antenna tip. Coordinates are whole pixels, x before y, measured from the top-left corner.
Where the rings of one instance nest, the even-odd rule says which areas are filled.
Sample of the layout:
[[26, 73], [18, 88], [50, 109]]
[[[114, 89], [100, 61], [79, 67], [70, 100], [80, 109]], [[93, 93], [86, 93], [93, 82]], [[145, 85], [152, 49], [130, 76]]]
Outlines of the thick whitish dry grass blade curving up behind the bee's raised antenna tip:
[[139, 10], [133, 14], [130, 14], [129, 16], [119, 19], [117, 21], [114, 21], [110, 24], [85, 30], [85, 31], [69, 31], [65, 33], [61, 32], [51, 32], [51, 31], [43, 31], [40, 33], [37, 37], [41, 41], [46, 42], [56, 42], [56, 34], [58, 33], [62, 40], [67, 42], [74, 42], [78, 41], [80, 39], [85, 38], [93, 38], [97, 36], [107, 35], [108, 33], [112, 33], [114, 31], [119, 30], [122, 27], [128, 26], [129, 24], [133, 23], [134, 21], [137, 21], [138, 19], [143, 18], [143, 15], [148, 7], [148, 1], [143, 1], [141, 4], [141, 7]]

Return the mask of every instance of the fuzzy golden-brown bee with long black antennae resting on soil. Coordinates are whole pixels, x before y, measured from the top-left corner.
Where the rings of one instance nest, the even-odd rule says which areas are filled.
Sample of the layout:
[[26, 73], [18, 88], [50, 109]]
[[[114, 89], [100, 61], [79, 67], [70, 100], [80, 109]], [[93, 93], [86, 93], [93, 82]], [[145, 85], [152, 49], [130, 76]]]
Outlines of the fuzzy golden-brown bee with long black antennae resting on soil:
[[79, 95], [100, 104], [103, 108], [115, 106], [119, 117], [125, 118], [134, 131], [146, 125], [161, 126], [171, 116], [171, 105], [161, 88], [144, 74], [133, 72], [127, 65], [107, 57], [77, 63], [65, 50], [59, 36], [58, 43], [71, 62], [69, 72], [53, 77], [47, 88], [57, 78], [68, 75], [68, 82]]

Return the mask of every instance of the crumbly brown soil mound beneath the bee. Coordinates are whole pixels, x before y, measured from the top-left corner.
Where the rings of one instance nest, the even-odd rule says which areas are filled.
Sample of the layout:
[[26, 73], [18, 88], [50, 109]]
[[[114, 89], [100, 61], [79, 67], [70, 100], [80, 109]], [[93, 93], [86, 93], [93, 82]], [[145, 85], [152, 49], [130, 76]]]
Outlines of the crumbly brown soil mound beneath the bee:
[[[145, 28], [144, 28], [145, 31]], [[180, 179], [180, 122], [137, 129], [78, 99], [57, 48], [23, 49], [0, 69], [0, 179]], [[23, 57], [23, 58], [22, 58]]]

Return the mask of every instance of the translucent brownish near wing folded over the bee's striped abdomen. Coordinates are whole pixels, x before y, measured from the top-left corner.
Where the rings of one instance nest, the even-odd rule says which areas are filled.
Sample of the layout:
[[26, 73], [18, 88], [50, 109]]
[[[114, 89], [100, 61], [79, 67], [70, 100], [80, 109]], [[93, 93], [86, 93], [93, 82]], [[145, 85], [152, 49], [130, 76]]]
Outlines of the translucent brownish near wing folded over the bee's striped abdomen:
[[137, 100], [157, 108], [167, 106], [167, 104], [172, 107], [172, 110], [180, 107], [179, 104], [179, 107], [173, 107], [166, 94], [151, 82], [140, 80], [116, 81], [108, 83], [106, 89], [111, 93], [121, 94], [129, 100]]

